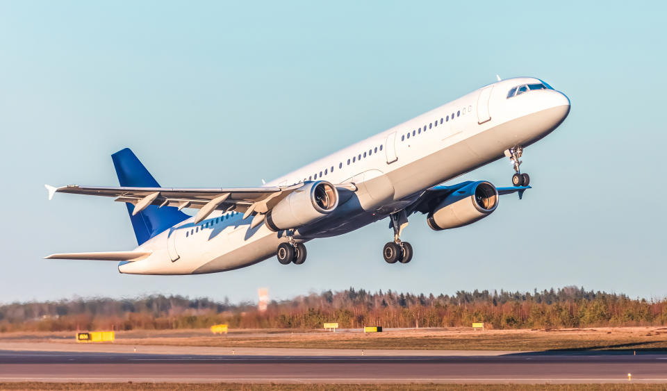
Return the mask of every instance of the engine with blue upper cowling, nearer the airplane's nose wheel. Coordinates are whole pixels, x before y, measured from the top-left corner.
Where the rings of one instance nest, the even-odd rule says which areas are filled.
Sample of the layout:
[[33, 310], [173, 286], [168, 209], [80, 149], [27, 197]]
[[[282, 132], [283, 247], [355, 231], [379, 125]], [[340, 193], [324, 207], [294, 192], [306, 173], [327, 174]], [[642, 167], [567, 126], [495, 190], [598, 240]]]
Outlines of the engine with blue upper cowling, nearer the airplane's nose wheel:
[[477, 222], [498, 206], [498, 191], [488, 182], [474, 182], [456, 190], [438, 203], [427, 217], [434, 231], [458, 228]]

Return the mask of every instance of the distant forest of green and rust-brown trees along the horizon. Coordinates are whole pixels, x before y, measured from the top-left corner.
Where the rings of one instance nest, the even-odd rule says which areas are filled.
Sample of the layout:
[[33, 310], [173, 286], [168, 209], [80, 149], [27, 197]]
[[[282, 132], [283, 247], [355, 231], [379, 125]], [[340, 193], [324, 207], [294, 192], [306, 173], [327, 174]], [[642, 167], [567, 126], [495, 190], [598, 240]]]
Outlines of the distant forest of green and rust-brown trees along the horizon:
[[265, 312], [252, 303], [152, 295], [138, 299], [73, 299], [0, 306], [0, 332], [94, 329], [470, 327], [573, 328], [667, 324], [667, 302], [566, 287], [530, 292], [410, 294], [360, 289], [272, 301]]

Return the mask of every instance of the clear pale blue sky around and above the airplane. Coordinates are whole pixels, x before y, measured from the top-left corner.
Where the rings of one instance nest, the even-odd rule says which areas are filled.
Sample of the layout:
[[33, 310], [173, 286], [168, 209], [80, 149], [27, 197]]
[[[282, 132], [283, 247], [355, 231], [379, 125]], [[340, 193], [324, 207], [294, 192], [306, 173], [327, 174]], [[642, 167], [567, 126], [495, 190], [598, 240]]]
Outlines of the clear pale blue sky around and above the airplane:
[[[239, 8], [240, 7], [240, 8]], [[667, 294], [666, 3], [0, 1], [4, 251], [0, 302], [185, 294], [255, 300], [350, 286], [445, 292], [563, 285]], [[379, 222], [204, 276], [127, 276], [42, 260], [132, 249], [125, 207], [44, 183], [117, 185], [131, 147], [161, 185], [252, 186], [456, 99], [495, 75], [536, 76], [572, 101], [526, 149], [533, 190], [491, 217], [431, 231], [387, 265]], [[507, 161], [466, 178], [509, 185]]]

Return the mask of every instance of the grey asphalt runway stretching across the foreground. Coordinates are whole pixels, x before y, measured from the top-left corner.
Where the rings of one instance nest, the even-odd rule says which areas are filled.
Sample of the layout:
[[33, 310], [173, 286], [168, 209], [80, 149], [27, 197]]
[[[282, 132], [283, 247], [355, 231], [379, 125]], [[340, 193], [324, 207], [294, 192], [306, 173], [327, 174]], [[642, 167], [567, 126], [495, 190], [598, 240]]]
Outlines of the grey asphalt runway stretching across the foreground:
[[667, 383], [667, 353], [236, 356], [0, 351], [0, 381]]

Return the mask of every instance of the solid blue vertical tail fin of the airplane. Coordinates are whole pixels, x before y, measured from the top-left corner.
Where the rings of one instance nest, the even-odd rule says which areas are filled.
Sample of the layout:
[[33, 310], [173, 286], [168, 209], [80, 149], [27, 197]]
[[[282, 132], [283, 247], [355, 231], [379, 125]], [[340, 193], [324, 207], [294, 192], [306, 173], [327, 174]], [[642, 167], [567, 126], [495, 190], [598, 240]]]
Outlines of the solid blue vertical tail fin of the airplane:
[[[118, 181], [121, 186], [138, 188], [160, 187], [155, 178], [153, 178], [129, 148], [117, 151], [111, 155], [111, 158], [113, 159], [113, 166], [116, 169]], [[134, 228], [134, 234], [139, 244], [146, 242], [150, 238], [190, 217], [173, 206], [158, 208], [156, 205], [149, 205], [140, 213], [132, 215], [134, 206], [131, 203], [125, 203], [125, 205], [130, 214], [132, 228]]]

